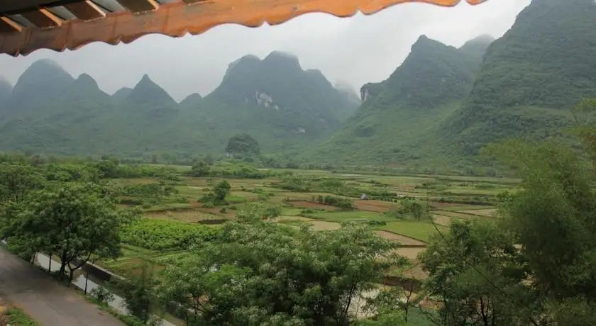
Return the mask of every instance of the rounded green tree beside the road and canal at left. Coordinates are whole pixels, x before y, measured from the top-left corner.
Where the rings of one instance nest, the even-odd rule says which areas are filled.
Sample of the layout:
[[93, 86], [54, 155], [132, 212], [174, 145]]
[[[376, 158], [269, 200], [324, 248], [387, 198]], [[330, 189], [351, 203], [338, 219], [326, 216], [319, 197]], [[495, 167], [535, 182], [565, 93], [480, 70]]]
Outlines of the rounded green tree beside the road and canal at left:
[[[28, 193], [21, 203], [7, 206], [0, 221], [8, 242], [34, 252], [60, 257], [60, 276], [73, 272], [91, 255], [117, 257], [120, 230], [136, 217], [133, 210], [118, 210], [111, 190], [90, 183], [50, 184]], [[75, 263], [75, 266], [72, 266]]]

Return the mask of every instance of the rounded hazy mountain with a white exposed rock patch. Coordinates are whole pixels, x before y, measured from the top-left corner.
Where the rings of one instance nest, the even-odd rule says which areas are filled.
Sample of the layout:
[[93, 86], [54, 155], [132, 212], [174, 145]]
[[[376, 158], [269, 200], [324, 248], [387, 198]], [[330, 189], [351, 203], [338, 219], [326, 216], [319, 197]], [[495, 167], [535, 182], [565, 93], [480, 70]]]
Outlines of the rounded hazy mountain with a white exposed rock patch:
[[304, 70], [297, 57], [272, 52], [242, 57], [228, 67], [217, 89], [186, 99], [177, 125], [185, 139], [221, 151], [230, 137], [248, 133], [263, 152], [300, 148], [324, 139], [357, 107], [318, 70]]

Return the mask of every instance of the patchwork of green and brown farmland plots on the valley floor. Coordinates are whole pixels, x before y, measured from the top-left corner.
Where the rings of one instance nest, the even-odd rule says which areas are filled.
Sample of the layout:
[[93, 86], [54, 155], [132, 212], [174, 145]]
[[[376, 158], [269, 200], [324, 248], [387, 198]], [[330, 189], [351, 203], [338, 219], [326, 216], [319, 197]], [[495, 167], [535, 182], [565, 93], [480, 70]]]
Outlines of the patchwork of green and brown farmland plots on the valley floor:
[[[251, 203], [277, 206], [280, 216], [272, 223], [287, 227], [309, 226], [333, 231], [342, 223], [369, 225], [380, 237], [396, 242], [398, 254], [412, 267], [402, 277], [424, 279], [418, 254], [437, 232], [448, 232], [453, 220], [492, 218], [496, 195], [513, 189], [512, 179], [462, 176], [377, 176], [320, 170], [260, 170], [259, 179], [225, 178], [231, 189], [216, 205], [204, 197], [224, 178], [192, 177], [188, 167], [175, 167], [179, 174], [169, 181], [172, 193], [164, 196], [127, 196], [120, 206], [138, 206], [143, 218], [123, 237], [123, 256], [104, 259], [99, 265], [117, 274], [138, 274], [142, 262], [155, 269], [175, 264], [184, 249], [209, 239]], [[115, 179], [121, 186], [155, 184], [151, 178]], [[362, 194], [369, 199], [360, 199]], [[418, 218], [404, 212], [404, 201], [426, 207]]]

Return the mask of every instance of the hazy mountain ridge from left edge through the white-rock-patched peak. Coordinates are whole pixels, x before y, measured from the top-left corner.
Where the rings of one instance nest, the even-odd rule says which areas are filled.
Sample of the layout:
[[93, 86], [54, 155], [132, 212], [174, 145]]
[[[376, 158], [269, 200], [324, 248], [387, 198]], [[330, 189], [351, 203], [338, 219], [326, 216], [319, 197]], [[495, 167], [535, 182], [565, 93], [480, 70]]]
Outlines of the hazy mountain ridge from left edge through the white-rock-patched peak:
[[228, 138], [243, 131], [263, 150], [280, 150], [321, 140], [356, 106], [321, 72], [302, 69], [283, 52], [245, 56], [230, 64], [214, 92], [181, 103], [146, 74], [110, 96], [88, 74], [75, 79], [40, 60], [14, 88], [0, 80], [0, 150], [190, 155], [223, 152]]

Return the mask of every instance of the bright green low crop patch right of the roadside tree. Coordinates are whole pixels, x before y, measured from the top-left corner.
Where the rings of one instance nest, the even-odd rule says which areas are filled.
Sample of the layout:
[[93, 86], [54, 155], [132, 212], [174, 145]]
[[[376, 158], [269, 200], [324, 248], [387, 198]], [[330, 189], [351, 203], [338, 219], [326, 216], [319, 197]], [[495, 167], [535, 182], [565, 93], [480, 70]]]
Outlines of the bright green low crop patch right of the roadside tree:
[[140, 219], [121, 231], [123, 243], [159, 251], [186, 250], [211, 240], [218, 231], [200, 224]]

